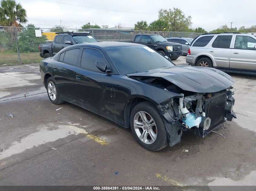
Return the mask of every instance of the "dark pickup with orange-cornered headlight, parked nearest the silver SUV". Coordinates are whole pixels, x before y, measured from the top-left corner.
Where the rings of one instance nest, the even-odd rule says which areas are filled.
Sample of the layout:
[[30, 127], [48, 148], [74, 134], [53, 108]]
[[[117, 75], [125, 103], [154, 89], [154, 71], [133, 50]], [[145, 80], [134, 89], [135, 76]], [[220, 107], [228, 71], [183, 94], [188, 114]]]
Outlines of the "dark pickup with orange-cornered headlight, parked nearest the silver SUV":
[[181, 44], [168, 42], [164, 37], [157, 34], [136, 34], [133, 41], [124, 42], [143, 44], [172, 60], [178, 59], [183, 54]]

